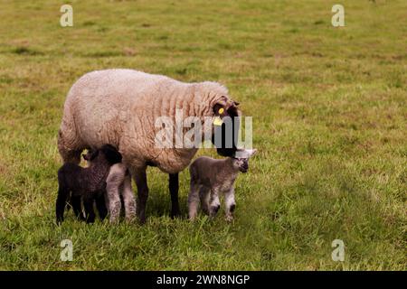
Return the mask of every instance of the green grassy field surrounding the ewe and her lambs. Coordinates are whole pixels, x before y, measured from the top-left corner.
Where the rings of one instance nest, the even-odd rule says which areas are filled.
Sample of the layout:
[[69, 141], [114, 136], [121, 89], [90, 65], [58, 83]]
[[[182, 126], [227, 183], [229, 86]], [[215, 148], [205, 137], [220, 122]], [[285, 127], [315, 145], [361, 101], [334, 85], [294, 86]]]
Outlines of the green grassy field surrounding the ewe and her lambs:
[[[1, 1], [0, 269], [405, 270], [407, 3], [341, 1], [340, 28], [334, 4]], [[167, 176], [148, 169], [145, 226], [71, 211], [55, 226], [64, 98], [106, 68], [220, 81], [241, 102], [259, 154], [238, 178], [234, 223], [185, 219], [186, 171], [184, 218], [170, 219]]]

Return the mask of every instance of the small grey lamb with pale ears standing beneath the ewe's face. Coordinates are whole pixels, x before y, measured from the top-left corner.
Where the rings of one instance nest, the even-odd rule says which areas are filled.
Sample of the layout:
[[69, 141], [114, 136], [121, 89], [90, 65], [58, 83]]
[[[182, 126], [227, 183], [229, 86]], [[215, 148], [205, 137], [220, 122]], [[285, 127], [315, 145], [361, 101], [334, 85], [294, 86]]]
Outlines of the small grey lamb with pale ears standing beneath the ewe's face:
[[201, 156], [189, 167], [191, 188], [188, 195], [189, 219], [196, 217], [199, 202], [204, 213], [214, 217], [221, 207], [219, 194], [224, 194], [226, 219], [233, 219], [236, 206], [234, 182], [239, 172], [249, 170], [249, 158], [256, 150], [240, 150], [236, 156], [216, 160]]

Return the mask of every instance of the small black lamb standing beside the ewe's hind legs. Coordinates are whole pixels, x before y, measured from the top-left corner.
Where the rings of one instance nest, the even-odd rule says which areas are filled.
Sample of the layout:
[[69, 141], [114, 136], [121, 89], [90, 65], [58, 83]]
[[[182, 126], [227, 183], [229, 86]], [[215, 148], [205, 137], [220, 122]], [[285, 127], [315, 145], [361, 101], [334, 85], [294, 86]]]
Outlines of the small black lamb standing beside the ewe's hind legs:
[[[88, 168], [75, 163], [65, 163], [58, 171], [59, 188], [56, 200], [58, 224], [63, 221], [63, 211], [69, 197], [76, 217], [86, 219], [88, 223], [95, 221], [94, 200], [100, 219], [104, 219], [108, 214], [105, 203], [106, 178], [110, 167], [115, 163], [121, 163], [121, 154], [112, 145], [104, 144], [100, 149], [84, 155], [84, 158], [90, 163]], [[83, 200], [85, 218], [80, 210], [80, 200]]]

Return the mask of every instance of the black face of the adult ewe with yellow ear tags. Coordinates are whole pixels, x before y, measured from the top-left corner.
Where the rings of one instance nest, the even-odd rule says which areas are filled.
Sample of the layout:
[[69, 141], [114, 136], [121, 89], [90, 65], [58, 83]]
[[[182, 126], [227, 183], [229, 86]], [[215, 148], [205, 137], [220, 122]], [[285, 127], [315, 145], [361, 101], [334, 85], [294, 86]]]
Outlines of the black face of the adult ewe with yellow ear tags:
[[237, 151], [239, 136], [239, 109], [238, 103], [234, 102], [231, 107], [224, 109], [221, 105], [215, 105], [215, 116], [222, 117], [222, 125], [214, 123], [212, 143], [216, 151], [222, 156], [234, 156]]

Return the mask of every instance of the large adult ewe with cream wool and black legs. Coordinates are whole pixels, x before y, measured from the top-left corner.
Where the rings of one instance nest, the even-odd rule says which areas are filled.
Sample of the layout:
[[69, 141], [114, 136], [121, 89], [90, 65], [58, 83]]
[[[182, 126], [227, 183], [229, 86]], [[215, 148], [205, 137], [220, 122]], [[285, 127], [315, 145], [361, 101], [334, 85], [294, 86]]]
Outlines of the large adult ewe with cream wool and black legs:
[[[219, 112], [222, 108], [222, 115]], [[85, 74], [71, 87], [66, 98], [58, 149], [63, 161], [79, 163], [85, 148], [111, 144], [123, 155], [123, 163], [137, 184], [137, 215], [144, 222], [148, 188], [147, 165], [169, 173], [171, 215], [179, 214], [178, 172], [191, 162], [197, 149], [159, 148], [155, 136], [157, 117], [175, 121], [175, 110], [185, 117], [237, 117], [237, 103], [216, 82], [184, 83], [162, 75], [137, 70], [98, 70]], [[221, 116], [220, 116], [221, 115]], [[222, 135], [232, 130], [233, 145], [218, 145], [218, 154], [236, 151], [234, 122], [222, 126]], [[212, 129], [212, 128], [211, 128]], [[204, 135], [206, 130], [202, 131]]]

